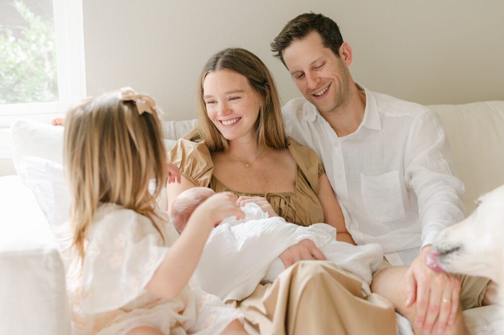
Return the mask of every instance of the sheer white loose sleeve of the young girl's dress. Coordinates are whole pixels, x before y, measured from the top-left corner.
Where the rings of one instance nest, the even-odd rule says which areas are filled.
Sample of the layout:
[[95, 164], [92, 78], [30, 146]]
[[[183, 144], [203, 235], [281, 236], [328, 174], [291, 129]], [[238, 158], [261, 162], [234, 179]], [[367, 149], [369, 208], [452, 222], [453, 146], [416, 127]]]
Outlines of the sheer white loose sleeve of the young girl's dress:
[[90, 229], [81, 308], [85, 313], [115, 310], [144, 292], [168, 247], [152, 222], [132, 210], [113, 211]]

